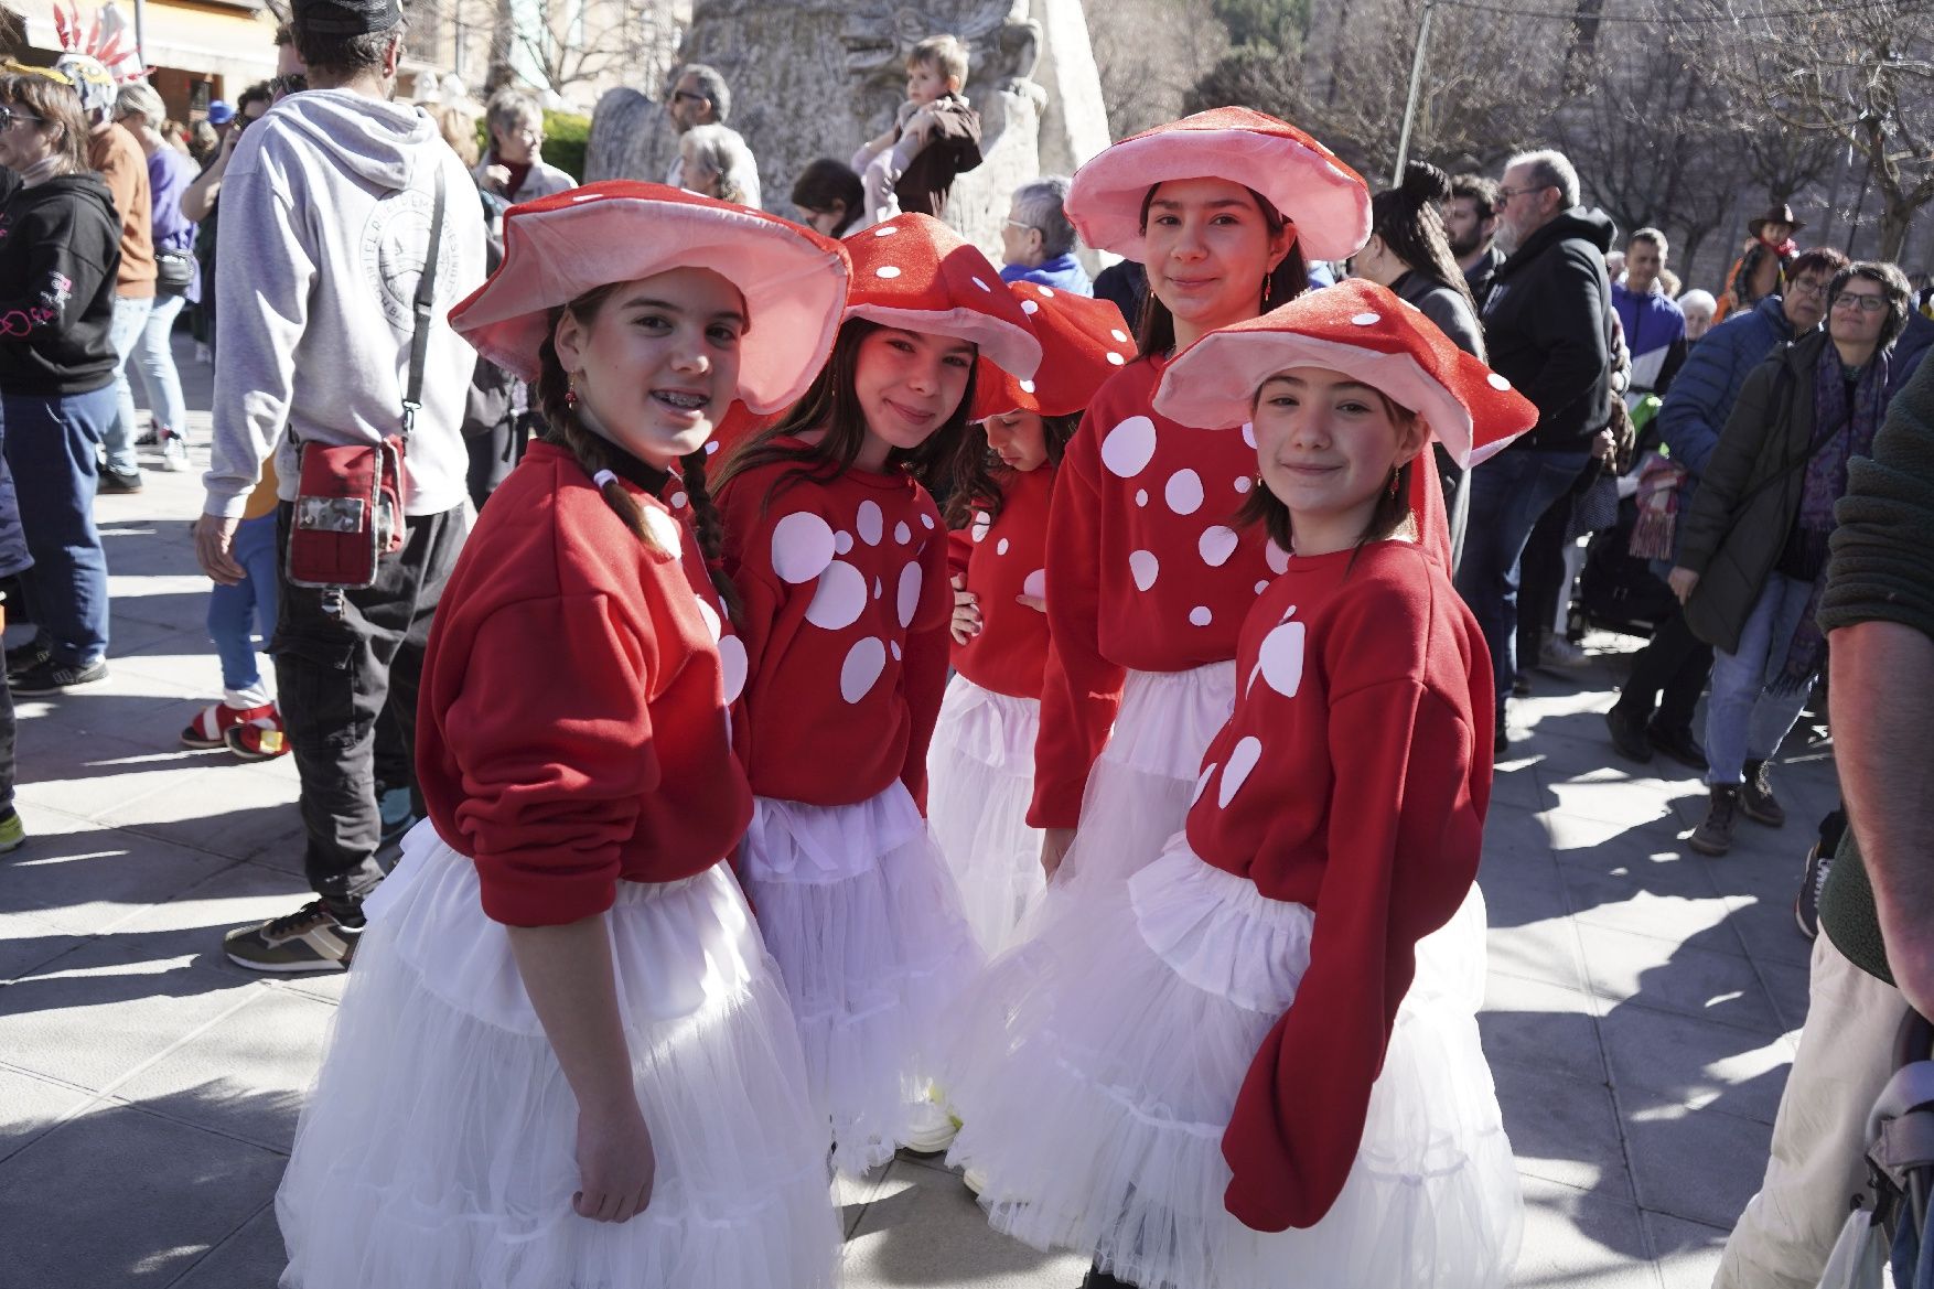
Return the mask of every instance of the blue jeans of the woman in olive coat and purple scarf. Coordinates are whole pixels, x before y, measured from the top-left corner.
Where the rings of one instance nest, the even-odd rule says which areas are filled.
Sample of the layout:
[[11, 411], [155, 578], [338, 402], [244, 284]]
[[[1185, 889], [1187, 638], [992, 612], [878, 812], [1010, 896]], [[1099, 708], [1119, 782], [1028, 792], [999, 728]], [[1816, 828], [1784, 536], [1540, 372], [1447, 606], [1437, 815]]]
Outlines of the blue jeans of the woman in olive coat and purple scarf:
[[1712, 697], [1706, 699], [1708, 784], [1746, 782], [1746, 763], [1779, 751], [1787, 730], [1801, 718], [1812, 685], [1793, 693], [1768, 693], [1787, 664], [1793, 631], [1806, 614], [1812, 583], [1772, 573], [1739, 629], [1739, 652], [1712, 650]]

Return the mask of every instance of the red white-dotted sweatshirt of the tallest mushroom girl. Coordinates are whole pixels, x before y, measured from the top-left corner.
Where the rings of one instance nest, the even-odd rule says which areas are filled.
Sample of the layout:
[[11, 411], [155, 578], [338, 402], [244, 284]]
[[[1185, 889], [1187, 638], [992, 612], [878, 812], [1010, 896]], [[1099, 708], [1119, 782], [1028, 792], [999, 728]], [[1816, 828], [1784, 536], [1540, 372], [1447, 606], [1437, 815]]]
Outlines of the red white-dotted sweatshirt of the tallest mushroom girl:
[[1255, 437], [1191, 430], [1149, 406], [1164, 362], [1108, 377], [1068, 441], [1048, 517], [1048, 664], [1027, 823], [1071, 828], [1135, 672], [1236, 656], [1236, 631], [1288, 555], [1234, 515]]

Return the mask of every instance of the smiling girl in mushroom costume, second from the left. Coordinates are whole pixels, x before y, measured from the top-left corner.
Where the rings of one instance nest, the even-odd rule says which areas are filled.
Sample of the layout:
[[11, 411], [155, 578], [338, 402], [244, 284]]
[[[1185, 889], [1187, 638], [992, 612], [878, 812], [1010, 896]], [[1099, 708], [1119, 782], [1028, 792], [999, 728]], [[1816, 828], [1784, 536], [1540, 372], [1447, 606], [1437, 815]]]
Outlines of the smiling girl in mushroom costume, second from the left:
[[979, 358], [1040, 362], [994, 265], [926, 215], [847, 238], [853, 292], [812, 389], [727, 463], [725, 567], [745, 596], [739, 873], [785, 977], [834, 1163], [940, 1150], [928, 1078], [981, 966], [921, 815], [948, 674], [948, 534], [928, 488], [967, 434]]

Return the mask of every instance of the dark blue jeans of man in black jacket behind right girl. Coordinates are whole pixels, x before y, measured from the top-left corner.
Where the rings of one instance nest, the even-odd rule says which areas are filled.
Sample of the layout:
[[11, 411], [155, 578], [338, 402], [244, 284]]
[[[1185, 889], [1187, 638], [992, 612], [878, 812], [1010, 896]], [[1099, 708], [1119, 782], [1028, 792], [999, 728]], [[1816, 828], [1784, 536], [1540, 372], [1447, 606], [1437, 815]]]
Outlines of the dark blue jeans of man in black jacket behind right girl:
[[1518, 675], [1518, 561], [1532, 528], [1567, 495], [1590, 453], [1514, 447], [1470, 472], [1470, 528], [1456, 588], [1483, 631], [1497, 677], [1497, 716]]

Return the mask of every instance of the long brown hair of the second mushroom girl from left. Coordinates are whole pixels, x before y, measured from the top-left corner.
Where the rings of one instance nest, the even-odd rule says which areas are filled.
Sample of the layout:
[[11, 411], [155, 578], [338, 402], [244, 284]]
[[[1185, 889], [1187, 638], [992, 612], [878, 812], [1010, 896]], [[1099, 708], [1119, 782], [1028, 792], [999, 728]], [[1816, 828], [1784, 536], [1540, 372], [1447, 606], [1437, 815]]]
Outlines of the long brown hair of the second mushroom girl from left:
[[[793, 484], [830, 482], [851, 470], [866, 445], [866, 410], [859, 405], [857, 389], [859, 350], [866, 337], [876, 331], [886, 331], [886, 327], [866, 317], [849, 317], [839, 327], [832, 358], [820, 368], [799, 403], [731, 453], [719, 470], [719, 488], [747, 470], [774, 463], [791, 465], [793, 468], [785, 470], [766, 494], [770, 505]], [[975, 366], [967, 368], [967, 389], [961, 391], [959, 406], [953, 408], [946, 424], [926, 435], [919, 447], [895, 447], [886, 457], [890, 468], [911, 474], [936, 497], [948, 495], [953, 484], [953, 465], [961, 451], [961, 439], [967, 437], [967, 410], [973, 406]], [[779, 441], [814, 430], [824, 432], [816, 443]]]

